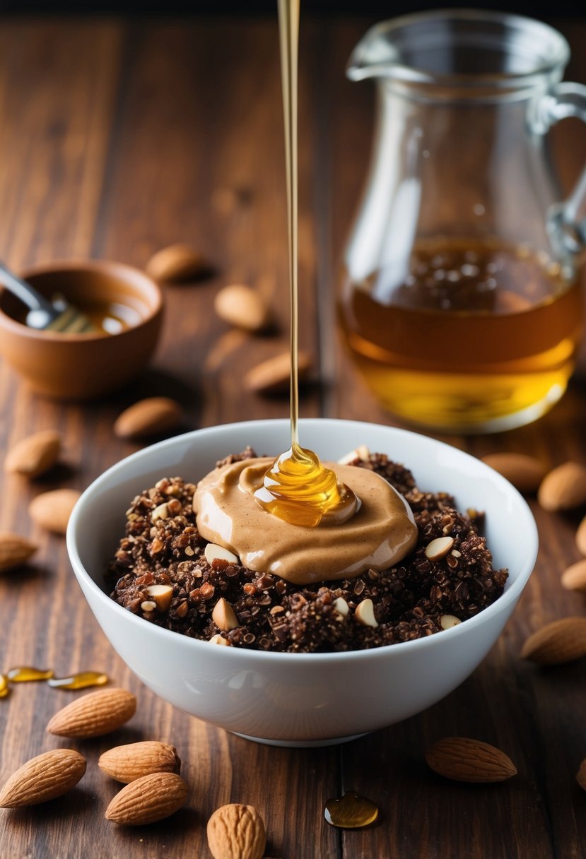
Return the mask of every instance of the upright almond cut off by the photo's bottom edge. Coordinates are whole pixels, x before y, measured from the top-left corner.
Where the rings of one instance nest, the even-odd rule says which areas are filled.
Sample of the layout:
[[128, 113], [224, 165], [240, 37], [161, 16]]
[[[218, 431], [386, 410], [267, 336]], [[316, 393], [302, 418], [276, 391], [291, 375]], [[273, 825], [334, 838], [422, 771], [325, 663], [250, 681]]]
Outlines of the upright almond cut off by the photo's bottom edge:
[[217, 808], [207, 825], [208, 846], [214, 859], [262, 859], [266, 832], [253, 806], [238, 802]]

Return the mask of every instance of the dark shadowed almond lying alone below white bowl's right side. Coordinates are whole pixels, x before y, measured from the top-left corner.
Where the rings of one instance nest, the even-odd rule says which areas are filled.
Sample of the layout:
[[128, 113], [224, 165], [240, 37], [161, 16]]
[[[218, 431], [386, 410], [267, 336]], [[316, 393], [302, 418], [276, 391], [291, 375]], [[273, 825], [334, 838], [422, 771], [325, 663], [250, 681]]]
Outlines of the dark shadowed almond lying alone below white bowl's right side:
[[425, 752], [430, 768], [458, 782], [504, 782], [516, 766], [500, 749], [468, 737], [444, 737]]

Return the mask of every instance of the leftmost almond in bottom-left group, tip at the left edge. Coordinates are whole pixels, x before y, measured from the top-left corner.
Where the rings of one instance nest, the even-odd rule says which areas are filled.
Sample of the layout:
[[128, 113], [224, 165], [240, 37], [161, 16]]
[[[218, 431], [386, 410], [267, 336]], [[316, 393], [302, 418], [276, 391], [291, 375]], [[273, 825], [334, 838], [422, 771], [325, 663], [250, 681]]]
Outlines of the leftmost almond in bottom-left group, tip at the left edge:
[[0, 808], [38, 805], [66, 794], [85, 772], [85, 758], [73, 749], [43, 752], [23, 764], [0, 791]]

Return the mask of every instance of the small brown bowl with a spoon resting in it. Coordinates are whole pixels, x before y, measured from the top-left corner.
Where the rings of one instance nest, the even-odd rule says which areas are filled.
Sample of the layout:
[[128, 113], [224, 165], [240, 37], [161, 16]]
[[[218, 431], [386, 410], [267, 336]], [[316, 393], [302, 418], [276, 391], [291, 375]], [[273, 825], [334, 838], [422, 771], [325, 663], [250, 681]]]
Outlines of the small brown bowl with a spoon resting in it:
[[[37, 393], [53, 399], [92, 399], [123, 387], [155, 350], [162, 323], [156, 282], [130, 265], [106, 260], [69, 260], [22, 272], [43, 295], [61, 293], [84, 313], [111, 315], [108, 333], [37, 331], [25, 323], [27, 309], [0, 289], [0, 353]], [[124, 326], [116, 326], [116, 317]]]

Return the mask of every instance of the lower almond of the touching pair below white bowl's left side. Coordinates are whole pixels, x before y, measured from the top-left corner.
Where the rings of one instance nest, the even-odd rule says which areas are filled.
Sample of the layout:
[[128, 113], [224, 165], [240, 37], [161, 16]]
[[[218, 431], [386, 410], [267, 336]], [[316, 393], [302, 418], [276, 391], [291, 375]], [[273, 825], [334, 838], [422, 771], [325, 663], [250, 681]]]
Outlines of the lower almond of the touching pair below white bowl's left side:
[[142, 826], [174, 814], [185, 803], [189, 789], [174, 772], [152, 772], [120, 790], [106, 809], [114, 823]]

